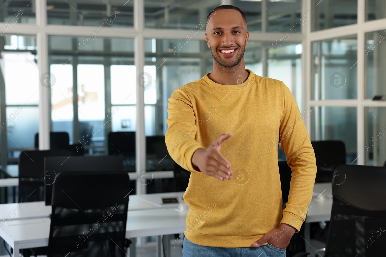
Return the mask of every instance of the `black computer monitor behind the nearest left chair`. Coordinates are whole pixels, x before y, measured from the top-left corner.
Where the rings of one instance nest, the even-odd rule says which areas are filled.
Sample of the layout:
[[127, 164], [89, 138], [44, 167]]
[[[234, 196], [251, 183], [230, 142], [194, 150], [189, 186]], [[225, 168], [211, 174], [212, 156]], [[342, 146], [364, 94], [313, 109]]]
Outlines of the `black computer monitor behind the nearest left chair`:
[[44, 200], [51, 205], [52, 184], [63, 171], [123, 171], [123, 156], [55, 156], [44, 157]]

